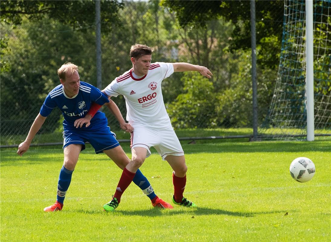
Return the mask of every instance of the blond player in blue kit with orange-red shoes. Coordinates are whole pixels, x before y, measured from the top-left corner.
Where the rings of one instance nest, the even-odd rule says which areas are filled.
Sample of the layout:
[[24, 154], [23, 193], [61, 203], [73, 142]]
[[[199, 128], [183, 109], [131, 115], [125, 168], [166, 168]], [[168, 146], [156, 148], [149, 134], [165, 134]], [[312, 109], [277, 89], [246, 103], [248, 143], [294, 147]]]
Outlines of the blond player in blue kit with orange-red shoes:
[[[93, 115], [90, 125], [74, 126], [75, 120], [85, 117], [92, 102], [99, 105], [107, 105], [119, 121], [121, 128], [127, 132], [133, 131], [133, 127], [124, 121], [118, 107], [112, 100], [108, 99], [106, 95], [93, 85], [80, 81], [76, 65], [72, 63], [62, 65], [58, 69], [58, 75], [61, 84], [47, 95], [25, 141], [19, 145], [17, 151], [17, 154], [22, 156], [29, 149], [32, 139], [45, 122], [47, 116], [56, 107], [60, 108], [64, 117], [64, 163], [60, 170], [56, 202], [46, 207], [44, 209], [45, 212], [62, 210], [71, 182], [72, 172], [77, 164], [79, 153], [85, 149], [85, 142], [89, 142], [93, 146], [96, 154], [105, 153], [122, 170], [130, 162], [130, 159], [116, 140], [115, 133], [107, 126], [108, 120], [104, 113], [98, 111]], [[151, 199], [154, 207], [172, 208], [170, 204], [156, 196], [152, 186], [141, 171], [138, 170], [133, 181]]]

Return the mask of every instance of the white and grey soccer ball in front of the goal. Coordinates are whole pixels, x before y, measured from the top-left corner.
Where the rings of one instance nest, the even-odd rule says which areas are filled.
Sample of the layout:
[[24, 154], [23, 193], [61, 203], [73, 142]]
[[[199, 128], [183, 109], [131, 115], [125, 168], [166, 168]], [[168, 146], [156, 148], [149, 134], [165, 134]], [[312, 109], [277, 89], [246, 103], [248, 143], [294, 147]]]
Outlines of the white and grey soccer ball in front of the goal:
[[298, 157], [290, 165], [290, 173], [294, 180], [309, 181], [315, 174], [315, 165], [307, 157]]

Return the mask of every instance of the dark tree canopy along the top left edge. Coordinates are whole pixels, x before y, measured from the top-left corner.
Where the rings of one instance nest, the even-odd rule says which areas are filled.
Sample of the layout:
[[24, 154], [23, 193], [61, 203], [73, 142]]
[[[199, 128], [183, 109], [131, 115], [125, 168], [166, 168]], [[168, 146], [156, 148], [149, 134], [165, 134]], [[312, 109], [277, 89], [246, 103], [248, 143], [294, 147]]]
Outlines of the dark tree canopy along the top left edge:
[[[101, 1], [101, 19], [103, 32], [111, 29], [117, 22], [117, 13], [123, 7], [122, 2]], [[24, 16], [29, 20], [50, 19], [84, 29], [95, 23], [95, 1], [24, 1], [3, 0], [0, 2], [1, 21], [9, 24], [21, 24]]]

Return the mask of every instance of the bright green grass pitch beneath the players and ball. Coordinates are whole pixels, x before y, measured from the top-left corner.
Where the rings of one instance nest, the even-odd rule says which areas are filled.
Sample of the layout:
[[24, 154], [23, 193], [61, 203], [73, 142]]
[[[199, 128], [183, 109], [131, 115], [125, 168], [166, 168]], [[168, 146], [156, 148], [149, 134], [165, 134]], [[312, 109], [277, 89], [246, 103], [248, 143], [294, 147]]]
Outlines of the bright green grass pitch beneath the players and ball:
[[[64, 209], [55, 202], [61, 146], [1, 150], [3, 241], [331, 241], [331, 142], [182, 142], [184, 195], [197, 209], [159, 210], [133, 183], [115, 213], [103, 212], [121, 171], [90, 145], [79, 157]], [[129, 151], [128, 144], [123, 148]], [[128, 154], [130, 156], [130, 154]], [[299, 156], [316, 166], [311, 181], [292, 179]], [[153, 150], [141, 168], [170, 202], [171, 169]]]

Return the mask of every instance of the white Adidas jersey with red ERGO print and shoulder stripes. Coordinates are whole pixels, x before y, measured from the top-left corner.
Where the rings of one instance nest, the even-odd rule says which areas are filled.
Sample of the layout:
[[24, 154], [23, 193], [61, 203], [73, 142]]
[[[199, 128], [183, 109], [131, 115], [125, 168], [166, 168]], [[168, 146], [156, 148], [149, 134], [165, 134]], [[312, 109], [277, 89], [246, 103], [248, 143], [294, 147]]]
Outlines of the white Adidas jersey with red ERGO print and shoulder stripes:
[[171, 63], [156, 62], [149, 71], [137, 79], [133, 69], [115, 78], [104, 91], [108, 96], [123, 95], [126, 103], [126, 120], [134, 126], [152, 129], [172, 129], [163, 102], [161, 83], [173, 73]]

